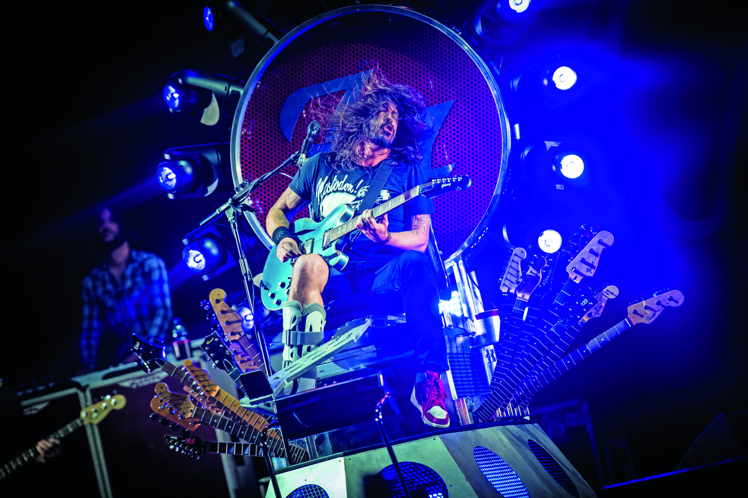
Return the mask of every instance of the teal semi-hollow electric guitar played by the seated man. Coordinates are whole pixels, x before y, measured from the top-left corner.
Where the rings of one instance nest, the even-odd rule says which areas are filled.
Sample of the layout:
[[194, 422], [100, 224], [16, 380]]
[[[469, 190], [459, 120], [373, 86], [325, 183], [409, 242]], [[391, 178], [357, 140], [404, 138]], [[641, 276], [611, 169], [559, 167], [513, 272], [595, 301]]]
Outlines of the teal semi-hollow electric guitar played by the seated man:
[[[431, 182], [418, 185], [404, 194], [375, 206], [373, 209], [374, 218], [385, 215], [419, 195], [431, 198], [447, 192], [467, 190], [471, 183], [470, 177], [465, 175], [433, 179]], [[360, 216], [354, 217], [353, 214], [353, 210], [349, 206], [341, 204], [319, 223], [312, 221], [310, 218], [301, 218], [294, 221], [291, 225], [291, 231], [301, 241], [298, 245], [301, 253], [319, 254], [328, 262], [328, 265], [338, 271], [345, 268], [348, 263], [348, 256], [342, 252], [339, 245], [342, 246], [340, 242], [342, 242], [343, 237], [356, 230], [356, 224]], [[275, 252], [274, 246], [265, 262], [263, 278], [260, 280], [260, 288], [262, 289], [260, 295], [263, 298], [263, 305], [269, 310], [280, 310], [281, 304], [288, 300], [293, 272], [292, 261], [281, 262]]]

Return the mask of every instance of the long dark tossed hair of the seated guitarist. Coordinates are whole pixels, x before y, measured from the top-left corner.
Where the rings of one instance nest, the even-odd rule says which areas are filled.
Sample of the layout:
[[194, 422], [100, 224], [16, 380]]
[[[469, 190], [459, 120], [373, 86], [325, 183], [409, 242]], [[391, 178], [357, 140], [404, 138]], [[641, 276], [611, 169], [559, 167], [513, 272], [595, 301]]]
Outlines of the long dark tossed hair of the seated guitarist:
[[370, 123], [384, 105], [397, 108], [398, 124], [390, 157], [398, 162], [417, 163], [423, 160], [420, 141], [432, 127], [424, 109], [426, 100], [406, 84], [391, 83], [376, 67], [361, 84], [356, 102], [340, 105], [328, 117], [328, 133], [332, 135], [329, 160], [337, 167], [351, 169], [364, 149]]

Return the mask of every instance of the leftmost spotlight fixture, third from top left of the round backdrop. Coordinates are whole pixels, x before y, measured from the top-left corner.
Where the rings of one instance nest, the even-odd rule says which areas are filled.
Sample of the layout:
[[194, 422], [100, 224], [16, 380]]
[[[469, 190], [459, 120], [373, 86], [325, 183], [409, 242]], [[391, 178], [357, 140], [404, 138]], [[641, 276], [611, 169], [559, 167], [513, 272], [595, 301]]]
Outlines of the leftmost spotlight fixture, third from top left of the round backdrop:
[[164, 151], [156, 167], [159, 186], [170, 199], [205, 197], [230, 190], [228, 144], [174, 147]]

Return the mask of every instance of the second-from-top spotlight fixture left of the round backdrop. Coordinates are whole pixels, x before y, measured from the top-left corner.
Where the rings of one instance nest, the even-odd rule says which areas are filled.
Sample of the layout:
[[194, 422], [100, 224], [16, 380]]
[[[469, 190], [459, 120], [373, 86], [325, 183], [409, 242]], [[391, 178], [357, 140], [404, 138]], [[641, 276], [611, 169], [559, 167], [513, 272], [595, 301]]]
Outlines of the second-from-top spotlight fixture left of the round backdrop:
[[202, 113], [200, 123], [230, 128], [244, 85], [230, 76], [186, 68], [169, 76], [164, 85], [164, 102], [170, 112]]

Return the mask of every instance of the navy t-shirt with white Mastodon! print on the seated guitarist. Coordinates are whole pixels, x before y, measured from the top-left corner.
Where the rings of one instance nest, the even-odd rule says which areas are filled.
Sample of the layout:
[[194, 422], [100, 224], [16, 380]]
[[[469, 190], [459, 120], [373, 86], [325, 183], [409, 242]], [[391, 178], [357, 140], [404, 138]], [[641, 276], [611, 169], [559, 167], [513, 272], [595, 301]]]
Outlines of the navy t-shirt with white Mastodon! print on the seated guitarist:
[[[339, 167], [336, 171], [328, 163], [328, 158], [326, 153], [319, 153], [307, 159], [289, 185], [292, 191], [310, 203], [310, 215], [314, 221], [318, 222], [340, 204], [347, 204], [355, 212], [364, 200], [377, 170], [376, 167], [358, 166], [353, 170]], [[396, 163], [390, 171], [390, 176], [387, 177], [387, 182], [384, 182], [384, 188], [375, 201], [375, 205], [428, 181], [426, 170], [420, 165]], [[434, 203], [431, 199], [419, 195], [387, 214], [388, 230], [405, 232], [411, 228], [412, 216], [430, 215], [433, 212]], [[346, 250], [349, 256], [346, 270], [352, 269], [353, 265], [358, 263], [381, 262], [384, 264], [404, 252], [402, 249], [376, 244], [358, 230], [351, 234], [351, 241], [351, 245]]]

